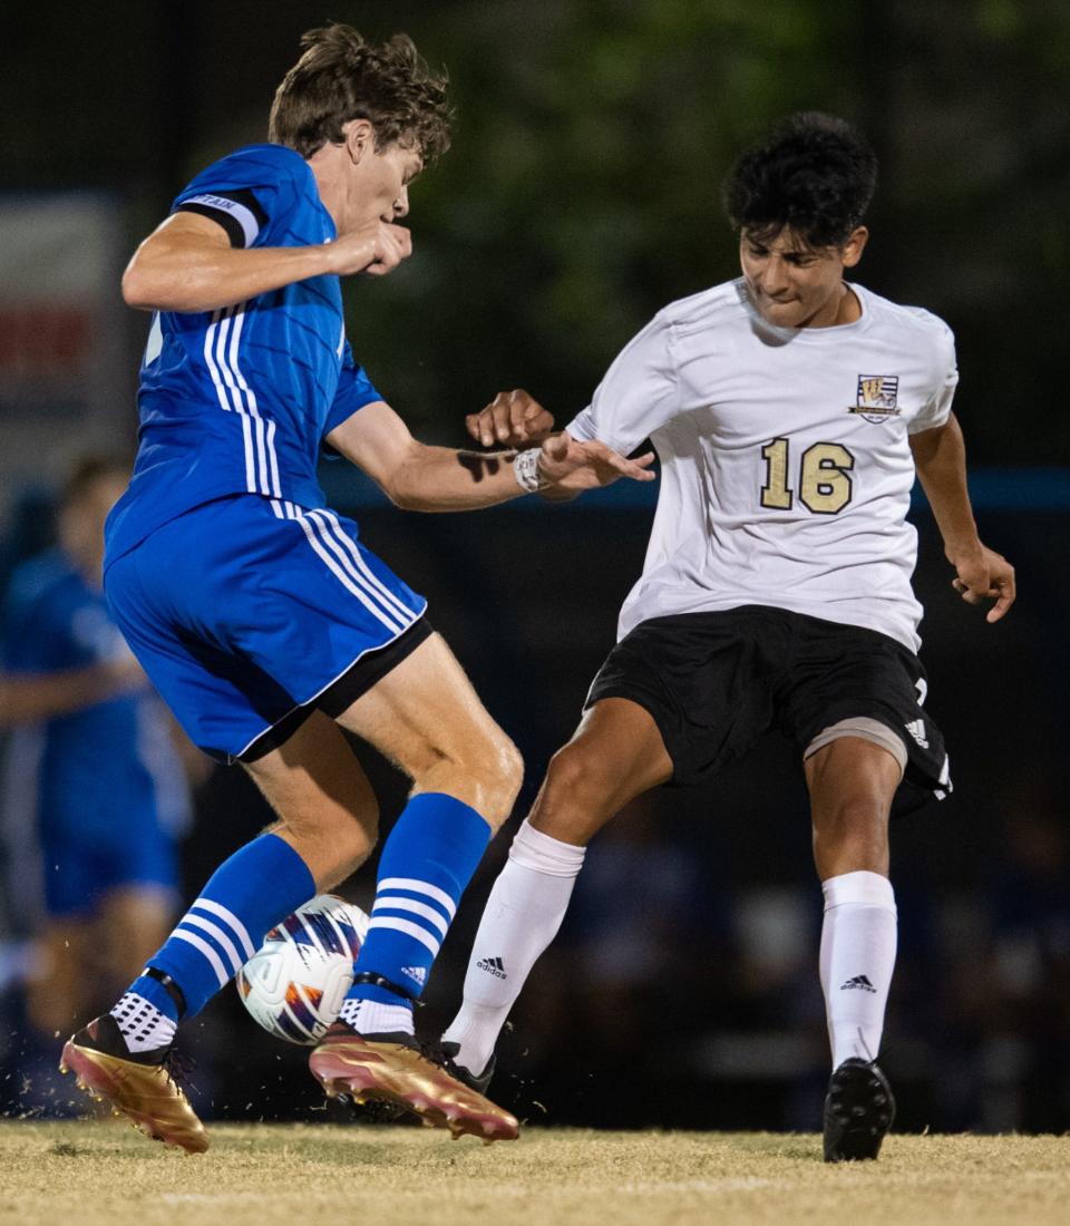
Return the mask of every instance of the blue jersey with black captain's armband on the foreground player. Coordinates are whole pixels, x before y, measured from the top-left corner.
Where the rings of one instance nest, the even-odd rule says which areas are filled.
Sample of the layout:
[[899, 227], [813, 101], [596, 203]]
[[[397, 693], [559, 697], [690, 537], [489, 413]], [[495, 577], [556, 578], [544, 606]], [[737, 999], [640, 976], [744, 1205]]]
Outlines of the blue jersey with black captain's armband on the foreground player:
[[[281, 145], [251, 145], [216, 162], [173, 208], [212, 217], [234, 246], [336, 237], [311, 169]], [[137, 462], [108, 520], [108, 562], [230, 494], [325, 506], [316, 479], [324, 438], [378, 400], [346, 341], [335, 276], [219, 310], [158, 313], [141, 367]]]

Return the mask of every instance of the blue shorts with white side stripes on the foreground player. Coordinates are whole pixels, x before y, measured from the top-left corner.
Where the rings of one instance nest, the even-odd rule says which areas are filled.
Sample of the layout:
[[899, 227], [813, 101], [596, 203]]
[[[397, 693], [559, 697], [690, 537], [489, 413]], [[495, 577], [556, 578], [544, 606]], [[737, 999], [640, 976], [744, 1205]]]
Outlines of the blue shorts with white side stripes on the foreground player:
[[427, 608], [351, 520], [257, 494], [164, 524], [108, 563], [104, 590], [190, 739], [223, 761], [314, 710]]

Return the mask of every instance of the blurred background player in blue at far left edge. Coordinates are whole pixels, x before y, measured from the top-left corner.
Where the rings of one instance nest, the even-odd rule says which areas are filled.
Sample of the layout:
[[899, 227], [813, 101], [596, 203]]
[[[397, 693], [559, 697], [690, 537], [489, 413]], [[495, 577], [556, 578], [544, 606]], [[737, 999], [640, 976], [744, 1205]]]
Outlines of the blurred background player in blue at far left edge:
[[114, 459], [83, 460], [60, 500], [59, 547], [18, 566], [7, 591], [0, 722], [36, 721], [7, 744], [7, 922], [32, 935], [26, 1010], [49, 1038], [163, 942], [189, 819], [174, 726], [102, 591], [104, 519], [127, 476]]

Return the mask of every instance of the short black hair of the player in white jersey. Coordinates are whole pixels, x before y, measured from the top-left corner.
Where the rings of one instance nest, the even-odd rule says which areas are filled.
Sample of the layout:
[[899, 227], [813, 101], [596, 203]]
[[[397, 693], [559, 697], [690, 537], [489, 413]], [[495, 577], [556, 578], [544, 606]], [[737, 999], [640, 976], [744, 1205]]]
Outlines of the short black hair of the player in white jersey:
[[724, 185], [738, 229], [768, 242], [786, 227], [809, 246], [840, 246], [865, 216], [876, 186], [876, 156], [857, 129], [805, 110], [748, 150]]

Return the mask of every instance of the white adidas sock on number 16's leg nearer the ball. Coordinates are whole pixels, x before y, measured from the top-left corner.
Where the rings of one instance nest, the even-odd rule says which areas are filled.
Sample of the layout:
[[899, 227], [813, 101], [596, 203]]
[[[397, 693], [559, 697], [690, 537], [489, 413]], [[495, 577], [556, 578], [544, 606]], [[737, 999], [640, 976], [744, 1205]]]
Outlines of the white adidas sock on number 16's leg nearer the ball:
[[585, 847], [552, 839], [527, 821], [509, 848], [479, 921], [461, 1011], [442, 1035], [456, 1062], [480, 1074], [531, 969], [561, 927]]

